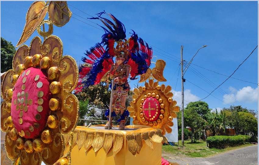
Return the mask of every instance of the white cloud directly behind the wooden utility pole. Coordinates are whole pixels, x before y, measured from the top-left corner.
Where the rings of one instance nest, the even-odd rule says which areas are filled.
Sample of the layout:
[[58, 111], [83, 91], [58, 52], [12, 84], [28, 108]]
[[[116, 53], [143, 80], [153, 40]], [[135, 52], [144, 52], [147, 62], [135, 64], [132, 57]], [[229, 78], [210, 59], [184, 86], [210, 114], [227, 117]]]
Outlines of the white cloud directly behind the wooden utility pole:
[[[173, 96], [173, 100], [176, 100], [177, 102], [177, 106], [180, 106], [181, 108], [181, 104], [182, 104], [182, 91], [172, 91], [174, 96]], [[196, 102], [200, 100], [200, 98], [196, 95], [193, 95], [191, 93], [191, 90], [190, 89], [186, 89], [184, 91], [184, 107], [187, 106], [187, 104], [189, 102]]]

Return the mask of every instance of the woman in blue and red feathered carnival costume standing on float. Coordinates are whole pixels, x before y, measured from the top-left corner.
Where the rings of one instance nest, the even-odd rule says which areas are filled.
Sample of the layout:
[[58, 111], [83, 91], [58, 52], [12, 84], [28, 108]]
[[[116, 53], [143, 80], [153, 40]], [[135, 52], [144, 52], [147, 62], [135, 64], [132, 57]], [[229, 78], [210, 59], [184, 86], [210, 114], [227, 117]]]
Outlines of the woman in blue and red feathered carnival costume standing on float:
[[[110, 16], [115, 24], [111, 20], [101, 17], [102, 14]], [[127, 40], [124, 25], [112, 14], [104, 11], [98, 13], [98, 17], [90, 19], [101, 20], [108, 29], [101, 26], [105, 30], [101, 43], [97, 43], [90, 48], [90, 51], [84, 53], [87, 57], [82, 57], [82, 61], [87, 65], [79, 67], [79, 81], [75, 90], [78, 93], [83, 88], [96, 85], [100, 81], [108, 82], [109, 77], [114, 78], [111, 121], [112, 117], [120, 113], [120, 119], [117, 120], [119, 130], [124, 130], [126, 117], [129, 116], [125, 106], [130, 90], [128, 77], [134, 80], [137, 75], [147, 72], [151, 64], [152, 48], [147, 43], [144, 45], [144, 41], [138, 38], [133, 30], [131, 37]], [[116, 57], [115, 63], [113, 57]], [[109, 109], [106, 110], [105, 116], [109, 121]], [[107, 122], [105, 129], [108, 129], [108, 125]]]

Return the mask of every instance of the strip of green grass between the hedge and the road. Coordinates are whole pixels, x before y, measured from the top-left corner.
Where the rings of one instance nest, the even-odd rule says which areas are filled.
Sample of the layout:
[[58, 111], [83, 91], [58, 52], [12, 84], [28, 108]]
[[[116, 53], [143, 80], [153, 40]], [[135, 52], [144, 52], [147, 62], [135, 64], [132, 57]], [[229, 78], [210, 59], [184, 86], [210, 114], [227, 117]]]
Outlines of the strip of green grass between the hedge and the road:
[[228, 147], [225, 149], [215, 149], [208, 148], [206, 142], [198, 141], [196, 143], [191, 143], [191, 140], [184, 141], [185, 146], [181, 146], [182, 141], [175, 143], [175, 146], [172, 145], [162, 145], [162, 153], [170, 153], [175, 156], [189, 156], [189, 157], [207, 157], [212, 156], [218, 153], [226, 152], [233, 149], [238, 149], [242, 147], [247, 147], [253, 144], [247, 143], [244, 145], [236, 146], [236, 147]]

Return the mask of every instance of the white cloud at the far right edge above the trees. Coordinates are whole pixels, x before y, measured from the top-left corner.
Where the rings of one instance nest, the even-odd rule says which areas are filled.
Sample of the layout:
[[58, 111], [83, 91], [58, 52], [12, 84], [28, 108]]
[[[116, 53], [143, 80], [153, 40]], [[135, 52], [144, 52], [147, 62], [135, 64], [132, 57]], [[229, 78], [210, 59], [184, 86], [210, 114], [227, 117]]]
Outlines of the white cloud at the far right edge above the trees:
[[258, 88], [252, 88], [250, 86], [243, 87], [236, 90], [233, 87], [229, 87], [230, 94], [223, 95], [223, 101], [225, 104], [230, 104], [235, 101], [252, 103], [258, 100]]

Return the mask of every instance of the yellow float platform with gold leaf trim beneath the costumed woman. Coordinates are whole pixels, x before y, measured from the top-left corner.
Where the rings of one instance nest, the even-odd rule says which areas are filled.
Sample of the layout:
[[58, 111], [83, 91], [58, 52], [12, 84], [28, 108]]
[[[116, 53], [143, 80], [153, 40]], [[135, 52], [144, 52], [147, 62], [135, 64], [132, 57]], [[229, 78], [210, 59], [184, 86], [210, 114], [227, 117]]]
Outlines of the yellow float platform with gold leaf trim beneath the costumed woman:
[[[143, 165], [143, 164], [161, 165], [162, 141], [163, 140], [166, 141], [166, 138], [164, 136], [158, 136], [160, 135], [161, 130], [154, 129], [152, 127], [147, 127], [147, 126], [140, 126], [140, 125], [126, 126], [125, 130], [123, 131], [118, 130], [118, 127], [116, 126], [113, 127], [111, 130], [102, 129], [103, 127], [104, 125], [98, 125], [96, 127], [92, 126], [90, 128], [82, 127], [82, 126], [76, 127], [74, 131], [74, 135], [75, 135], [74, 138], [79, 139], [79, 136], [83, 135], [79, 133], [80, 131], [86, 131], [88, 133], [95, 132], [94, 133], [95, 136], [97, 135], [96, 134], [97, 132], [104, 132], [104, 133], [108, 132], [108, 133], [112, 133], [113, 135], [122, 134], [123, 143], [119, 152], [117, 152], [114, 155], [113, 146], [111, 146], [111, 149], [109, 149], [107, 154], [103, 147], [101, 147], [98, 151], [94, 152], [94, 149], [93, 149], [94, 145], [91, 146], [87, 151], [85, 151], [84, 146], [79, 149], [78, 146], [76, 146], [75, 141], [72, 143], [70, 139], [69, 143], [67, 143], [66, 145], [64, 155], [67, 152], [69, 152], [69, 144], [72, 144], [73, 148], [71, 150], [71, 165], [79, 165], [79, 164], [80, 165], [138, 165], [138, 164], [139, 165]], [[157, 133], [154, 134], [154, 132], [157, 132]], [[140, 137], [141, 140], [137, 140], [135, 136], [136, 134], [139, 134], [139, 133], [141, 133], [141, 137]], [[148, 136], [146, 136], [147, 134]], [[136, 140], [135, 139], [130, 140], [129, 138], [126, 138], [127, 135], [134, 135]], [[162, 139], [160, 142], [158, 142], [159, 140], [157, 140], [159, 138]], [[114, 140], [114, 136], [113, 136], [113, 140]], [[134, 143], [134, 141], [137, 143]], [[114, 142], [112, 143], [112, 145], [113, 144]], [[135, 155], [133, 155], [134, 153], [132, 152], [132, 148], [134, 148], [132, 146], [133, 144], [135, 145], [137, 144], [138, 146], [142, 145], [142, 147], [140, 148], [140, 151]]]

